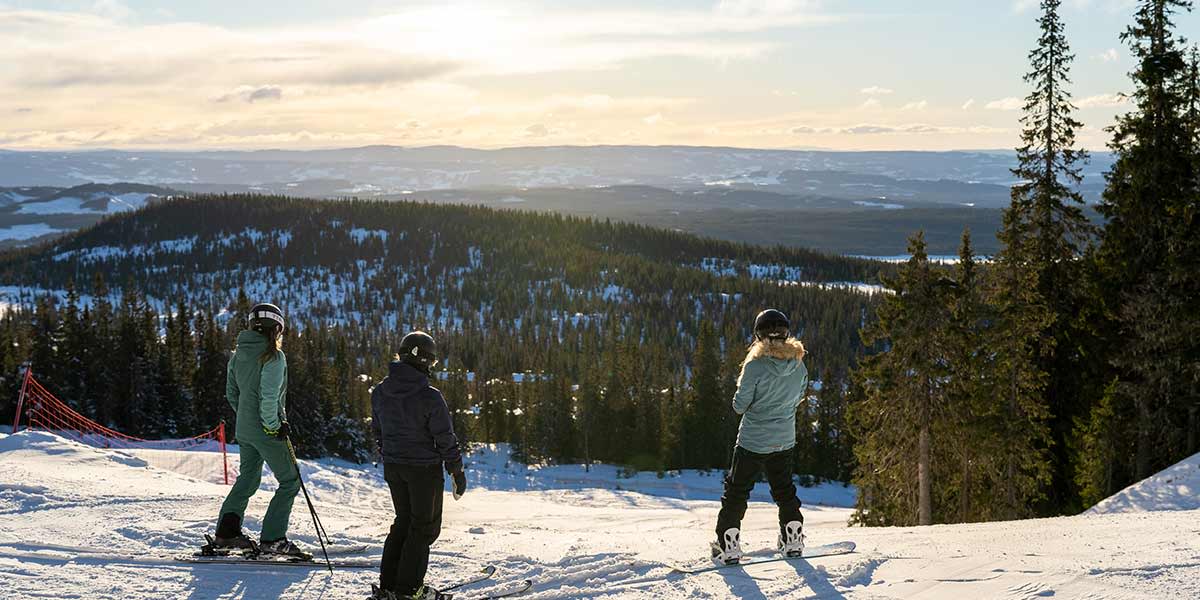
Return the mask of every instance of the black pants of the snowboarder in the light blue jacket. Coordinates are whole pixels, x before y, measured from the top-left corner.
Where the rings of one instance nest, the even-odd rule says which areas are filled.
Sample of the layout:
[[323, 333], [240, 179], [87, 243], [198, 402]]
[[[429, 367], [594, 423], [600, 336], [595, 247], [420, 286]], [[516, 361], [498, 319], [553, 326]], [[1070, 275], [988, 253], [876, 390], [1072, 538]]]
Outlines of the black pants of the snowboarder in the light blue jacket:
[[804, 522], [800, 515], [800, 498], [796, 496], [796, 484], [792, 481], [792, 450], [772, 454], [751, 452], [742, 446], [733, 449], [733, 464], [725, 476], [725, 494], [721, 496], [721, 512], [716, 516], [716, 539], [726, 529], [742, 528], [742, 518], [746, 515], [746, 502], [754, 490], [758, 474], [767, 472], [770, 484], [770, 497], [779, 506], [779, 524], [790, 521]]

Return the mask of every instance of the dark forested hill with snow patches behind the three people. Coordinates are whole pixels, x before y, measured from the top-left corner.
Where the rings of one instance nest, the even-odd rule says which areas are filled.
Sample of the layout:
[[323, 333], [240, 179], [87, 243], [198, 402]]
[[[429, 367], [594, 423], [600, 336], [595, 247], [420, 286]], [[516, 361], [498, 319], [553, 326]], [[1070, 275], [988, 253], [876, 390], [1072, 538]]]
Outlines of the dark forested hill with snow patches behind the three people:
[[[715, 467], [732, 444], [727, 397], [755, 313], [774, 306], [793, 317], [810, 348], [814, 378], [834, 382], [826, 394], [836, 401], [827, 408], [840, 414], [840, 382], [862, 353], [858, 329], [875, 304], [846, 283], [875, 282], [881, 269], [890, 266], [560, 215], [210, 196], [154, 203], [53, 245], [0, 254], [0, 286], [10, 290], [7, 301], [20, 305], [35, 304], [36, 296], [13, 298], [13, 288], [55, 292], [56, 302], [42, 301], [37, 316], [10, 317], [6, 326], [35, 344], [40, 336], [48, 338], [41, 343], [53, 348], [35, 358], [35, 370], [64, 394], [83, 385], [68, 382], [67, 365], [114, 360], [113, 370], [127, 371], [134, 361], [112, 353], [65, 355], [77, 346], [58, 343], [70, 331], [102, 338], [121, 330], [120, 323], [80, 323], [84, 318], [96, 320], [106, 311], [118, 322], [134, 318], [122, 311], [187, 314], [175, 319], [187, 328], [180, 336], [187, 348], [163, 352], [193, 356], [204, 330], [222, 330], [217, 346], [228, 349], [246, 304], [272, 301], [298, 325], [292, 331], [304, 331], [302, 341], [287, 342], [289, 356], [304, 354], [289, 360], [292, 380], [300, 383], [290, 396], [294, 403], [324, 407], [312, 420], [361, 416], [366, 395], [359, 384], [385, 372], [398, 335], [424, 328], [445, 341], [449, 364], [440, 377], [455, 396], [460, 426], [473, 439], [514, 442], [532, 455], [556, 458]], [[80, 306], [92, 306], [91, 317], [72, 310], [68, 288]], [[170, 340], [143, 346], [157, 352], [151, 347]], [[7, 360], [22, 358], [16, 354]], [[203, 365], [178, 368], [192, 377], [184, 382], [185, 395], [209, 394], [210, 384], [194, 377]], [[704, 383], [709, 379], [713, 385]], [[557, 385], [563, 388], [550, 389]], [[95, 385], [89, 390], [95, 394]], [[211, 401], [193, 398], [190, 406], [198, 413], [221, 410], [223, 402], [212, 394]], [[92, 404], [127, 401], [114, 391]], [[539, 410], [551, 402], [565, 402], [558, 412], [568, 414], [553, 427]], [[588, 402], [593, 409], [583, 410]], [[103, 414], [113, 425], [152, 428], [146, 422], [154, 419], [122, 424], [120, 412], [110, 413]], [[200, 426], [218, 418], [194, 420]], [[684, 419], [697, 421], [692, 426]], [[595, 431], [605, 431], [606, 439], [584, 444], [594, 426], [602, 426]], [[822, 427], [830, 439], [840, 431]], [[314, 438], [308, 438], [308, 454], [353, 455]], [[701, 444], [716, 450], [709, 456]], [[846, 474], [840, 462], [822, 464], [830, 475]]]

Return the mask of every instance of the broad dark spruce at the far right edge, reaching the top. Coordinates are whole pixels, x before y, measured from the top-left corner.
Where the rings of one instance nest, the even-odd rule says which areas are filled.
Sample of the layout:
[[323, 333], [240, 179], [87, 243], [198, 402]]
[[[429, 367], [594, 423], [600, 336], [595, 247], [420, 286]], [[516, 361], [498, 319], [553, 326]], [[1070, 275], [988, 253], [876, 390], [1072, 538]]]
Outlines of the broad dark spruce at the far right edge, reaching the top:
[[1138, 60], [1130, 73], [1135, 107], [1111, 128], [1117, 160], [1099, 205], [1108, 223], [1098, 263], [1115, 322], [1106, 347], [1118, 406], [1109, 408], [1121, 414], [1120, 404], [1132, 407], [1135, 442], [1127, 474], [1114, 486], [1184, 455], [1196, 402], [1196, 161], [1187, 121], [1189, 68], [1172, 22], [1190, 8], [1188, 0], [1144, 0], [1122, 34]]

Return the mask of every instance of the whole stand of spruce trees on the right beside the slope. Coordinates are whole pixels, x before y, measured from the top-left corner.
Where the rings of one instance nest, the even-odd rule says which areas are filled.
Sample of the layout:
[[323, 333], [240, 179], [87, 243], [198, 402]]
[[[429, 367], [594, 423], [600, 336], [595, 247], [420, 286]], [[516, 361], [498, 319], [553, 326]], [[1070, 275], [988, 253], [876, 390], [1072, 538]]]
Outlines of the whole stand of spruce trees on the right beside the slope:
[[1133, 109], [1097, 230], [1081, 210], [1073, 55], [1043, 0], [1001, 251], [954, 270], [924, 240], [888, 280], [856, 371], [856, 518], [929, 524], [1073, 514], [1200, 451], [1198, 59], [1189, 1], [1144, 0], [1122, 35]]

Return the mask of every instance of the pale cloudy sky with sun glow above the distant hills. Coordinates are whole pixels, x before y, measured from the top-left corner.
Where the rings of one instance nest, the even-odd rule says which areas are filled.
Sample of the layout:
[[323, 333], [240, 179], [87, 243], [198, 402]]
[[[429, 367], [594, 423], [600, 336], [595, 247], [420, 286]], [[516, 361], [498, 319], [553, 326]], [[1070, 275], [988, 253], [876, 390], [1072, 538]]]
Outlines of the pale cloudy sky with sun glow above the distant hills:
[[[1133, 0], [1064, 0], [1081, 145]], [[1036, 0], [0, 0], [0, 149], [1018, 143]], [[1200, 14], [1180, 32], [1200, 35]]]

